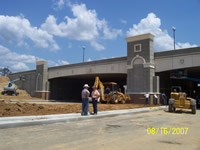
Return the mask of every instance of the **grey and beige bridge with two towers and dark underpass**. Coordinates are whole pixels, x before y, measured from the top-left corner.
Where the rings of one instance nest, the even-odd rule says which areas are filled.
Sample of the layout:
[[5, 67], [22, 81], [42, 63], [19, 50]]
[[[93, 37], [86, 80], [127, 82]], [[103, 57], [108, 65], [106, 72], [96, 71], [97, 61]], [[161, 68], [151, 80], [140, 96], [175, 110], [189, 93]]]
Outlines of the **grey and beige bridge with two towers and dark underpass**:
[[39, 61], [36, 70], [13, 73], [9, 77], [15, 79], [24, 75], [26, 81], [17, 83], [20, 88], [32, 96], [55, 100], [80, 100], [82, 85], [88, 83], [92, 86], [96, 76], [104, 82], [117, 82], [121, 88], [127, 85], [128, 93], [137, 95], [132, 98], [141, 101], [144, 98], [140, 97], [146, 92], [169, 93], [173, 84], [185, 86], [187, 90], [191, 88], [190, 94], [193, 90], [198, 92], [196, 83], [185, 81], [182, 85], [180, 80], [172, 81], [170, 76], [181, 70], [190, 77], [200, 78], [200, 47], [154, 52], [153, 38], [152, 34], [126, 38], [125, 57], [56, 67], [48, 67], [48, 62]]

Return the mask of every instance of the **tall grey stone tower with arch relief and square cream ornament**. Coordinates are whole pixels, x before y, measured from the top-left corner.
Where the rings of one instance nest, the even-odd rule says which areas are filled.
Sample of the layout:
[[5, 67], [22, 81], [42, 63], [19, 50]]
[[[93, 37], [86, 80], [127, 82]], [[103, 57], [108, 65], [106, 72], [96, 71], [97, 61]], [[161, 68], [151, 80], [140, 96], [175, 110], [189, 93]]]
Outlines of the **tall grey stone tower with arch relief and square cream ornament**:
[[131, 95], [134, 103], [145, 103], [146, 93], [159, 94], [159, 77], [155, 76], [153, 39], [154, 35], [151, 33], [126, 38], [127, 93]]

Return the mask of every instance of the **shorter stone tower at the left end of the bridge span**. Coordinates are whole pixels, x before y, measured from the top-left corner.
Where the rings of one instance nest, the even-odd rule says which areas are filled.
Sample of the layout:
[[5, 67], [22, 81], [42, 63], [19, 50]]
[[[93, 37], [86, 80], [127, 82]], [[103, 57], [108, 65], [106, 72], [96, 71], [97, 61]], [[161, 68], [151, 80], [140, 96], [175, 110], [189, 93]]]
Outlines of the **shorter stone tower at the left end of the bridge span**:
[[49, 99], [49, 82], [48, 82], [48, 62], [36, 62], [36, 89], [35, 96], [42, 99]]

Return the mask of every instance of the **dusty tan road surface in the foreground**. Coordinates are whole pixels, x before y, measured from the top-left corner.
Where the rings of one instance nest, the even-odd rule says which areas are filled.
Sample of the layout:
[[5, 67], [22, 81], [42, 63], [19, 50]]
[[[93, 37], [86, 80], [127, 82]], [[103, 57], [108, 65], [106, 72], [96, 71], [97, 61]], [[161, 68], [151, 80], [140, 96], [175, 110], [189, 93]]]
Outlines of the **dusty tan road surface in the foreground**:
[[0, 129], [0, 149], [200, 150], [200, 110], [196, 115], [162, 110]]

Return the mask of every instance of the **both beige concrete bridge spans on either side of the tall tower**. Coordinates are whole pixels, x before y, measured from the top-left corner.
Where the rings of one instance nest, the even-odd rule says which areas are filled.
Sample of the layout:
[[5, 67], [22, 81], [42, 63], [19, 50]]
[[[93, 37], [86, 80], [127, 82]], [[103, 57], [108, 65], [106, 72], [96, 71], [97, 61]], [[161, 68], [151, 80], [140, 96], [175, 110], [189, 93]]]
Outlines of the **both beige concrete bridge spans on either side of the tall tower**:
[[[200, 66], [200, 47], [155, 52], [155, 71], [163, 72]], [[127, 57], [51, 67], [48, 79], [99, 74], [127, 74]]]

